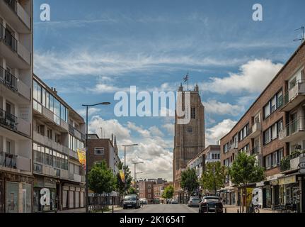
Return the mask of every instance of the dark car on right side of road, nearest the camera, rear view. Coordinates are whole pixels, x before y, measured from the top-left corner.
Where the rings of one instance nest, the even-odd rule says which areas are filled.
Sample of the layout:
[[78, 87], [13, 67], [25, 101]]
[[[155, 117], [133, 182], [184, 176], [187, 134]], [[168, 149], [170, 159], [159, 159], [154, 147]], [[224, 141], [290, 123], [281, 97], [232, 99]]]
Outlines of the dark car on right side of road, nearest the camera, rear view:
[[199, 213], [223, 213], [224, 207], [218, 196], [205, 196], [199, 204]]

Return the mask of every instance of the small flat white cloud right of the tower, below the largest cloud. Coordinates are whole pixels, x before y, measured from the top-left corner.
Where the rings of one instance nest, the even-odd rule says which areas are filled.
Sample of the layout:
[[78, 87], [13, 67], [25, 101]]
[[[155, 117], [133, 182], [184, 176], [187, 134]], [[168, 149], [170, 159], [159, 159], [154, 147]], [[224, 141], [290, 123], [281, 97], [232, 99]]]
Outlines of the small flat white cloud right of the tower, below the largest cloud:
[[243, 106], [232, 105], [229, 103], [222, 103], [216, 100], [209, 100], [202, 103], [205, 106], [205, 111], [207, 114], [217, 114], [217, 115], [231, 115], [238, 116], [242, 111], [244, 111]]

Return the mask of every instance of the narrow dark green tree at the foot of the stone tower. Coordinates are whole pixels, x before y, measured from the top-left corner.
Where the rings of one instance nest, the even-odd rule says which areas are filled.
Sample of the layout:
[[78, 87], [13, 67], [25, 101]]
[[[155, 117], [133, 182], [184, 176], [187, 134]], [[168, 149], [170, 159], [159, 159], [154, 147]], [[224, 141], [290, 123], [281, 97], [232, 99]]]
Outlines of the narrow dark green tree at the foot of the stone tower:
[[196, 171], [194, 169], [188, 168], [181, 173], [181, 188], [188, 193], [188, 196], [195, 192], [195, 190], [199, 187], [198, 178], [196, 175]]

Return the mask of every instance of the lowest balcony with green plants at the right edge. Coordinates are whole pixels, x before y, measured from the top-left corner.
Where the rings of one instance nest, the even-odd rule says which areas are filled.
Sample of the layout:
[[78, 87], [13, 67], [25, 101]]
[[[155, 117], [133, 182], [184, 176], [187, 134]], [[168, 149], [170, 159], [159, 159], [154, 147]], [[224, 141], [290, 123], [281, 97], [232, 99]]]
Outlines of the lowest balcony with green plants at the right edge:
[[280, 170], [281, 172], [294, 172], [299, 170], [300, 163], [305, 163], [305, 154], [295, 153], [284, 157], [281, 162]]

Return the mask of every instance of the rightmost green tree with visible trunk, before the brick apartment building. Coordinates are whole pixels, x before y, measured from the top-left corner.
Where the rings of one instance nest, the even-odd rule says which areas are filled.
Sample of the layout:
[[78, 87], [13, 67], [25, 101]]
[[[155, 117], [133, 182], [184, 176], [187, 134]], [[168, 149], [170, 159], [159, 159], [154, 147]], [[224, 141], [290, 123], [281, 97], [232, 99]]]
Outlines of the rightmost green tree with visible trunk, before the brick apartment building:
[[249, 156], [246, 153], [238, 154], [236, 160], [229, 168], [229, 175], [231, 182], [242, 189], [242, 204], [244, 204], [247, 196], [246, 187], [251, 183], [261, 182], [265, 179], [264, 168], [258, 165], [255, 157]]

